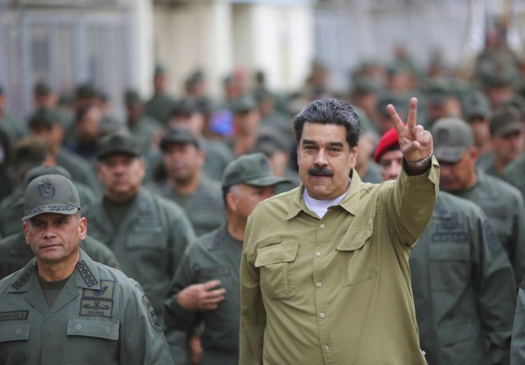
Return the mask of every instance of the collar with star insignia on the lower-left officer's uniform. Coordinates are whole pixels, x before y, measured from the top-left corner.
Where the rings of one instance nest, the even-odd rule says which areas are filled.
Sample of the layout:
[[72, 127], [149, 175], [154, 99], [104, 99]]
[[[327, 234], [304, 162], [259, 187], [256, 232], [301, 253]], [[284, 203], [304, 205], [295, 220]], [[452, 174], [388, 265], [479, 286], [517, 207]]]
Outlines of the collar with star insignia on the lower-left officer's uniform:
[[[36, 258], [33, 258], [23, 269], [18, 271], [13, 280], [11, 280], [8, 293], [24, 293], [29, 291], [34, 280], [38, 280], [36, 276]], [[76, 268], [71, 274], [71, 280], [74, 280], [76, 287], [93, 290], [100, 289], [99, 268], [81, 249]]]

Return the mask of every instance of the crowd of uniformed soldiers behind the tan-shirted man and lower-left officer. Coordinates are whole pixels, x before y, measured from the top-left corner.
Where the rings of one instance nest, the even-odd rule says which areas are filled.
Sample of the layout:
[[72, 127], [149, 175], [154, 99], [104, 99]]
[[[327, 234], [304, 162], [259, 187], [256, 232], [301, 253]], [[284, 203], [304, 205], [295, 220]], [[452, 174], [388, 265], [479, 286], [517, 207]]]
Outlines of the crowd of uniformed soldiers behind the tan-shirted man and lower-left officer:
[[525, 287], [524, 75], [525, 62], [500, 44], [468, 75], [439, 57], [422, 72], [399, 52], [388, 66], [361, 64], [347, 94], [330, 92], [327, 69], [314, 63], [301, 92], [272, 92], [264, 73], [236, 71], [218, 101], [200, 71], [175, 99], [157, 66], [151, 99], [123, 94], [124, 121], [92, 85], [59, 98], [44, 82], [34, 86], [34, 113], [17, 120], [0, 87], [0, 278], [33, 255], [20, 223], [26, 187], [65, 176], [88, 222], [80, 248], [139, 282], [173, 361], [237, 364], [244, 229], [257, 203], [300, 185], [293, 115], [325, 96], [349, 101], [361, 124], [356, 171], [381, 183], [402, 164], [386, 106], [405, 120], [416, 96], [442, 189], [410, 258], [421, 348], [429, 364], [508, 364], [516, 308], [514, 331], [525, 336], [525, 303], [516, 307]]

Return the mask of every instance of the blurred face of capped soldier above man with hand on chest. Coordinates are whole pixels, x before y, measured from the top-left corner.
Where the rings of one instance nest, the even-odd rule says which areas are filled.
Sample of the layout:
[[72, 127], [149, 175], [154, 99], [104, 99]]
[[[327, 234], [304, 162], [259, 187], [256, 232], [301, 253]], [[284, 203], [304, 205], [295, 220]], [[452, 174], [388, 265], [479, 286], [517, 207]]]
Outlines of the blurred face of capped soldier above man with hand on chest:
[[197, 176], [204, 164], [204, 152], [193, 143], [174, 143], [162, 154], [169, 178], [176, 183], [188, 183]]

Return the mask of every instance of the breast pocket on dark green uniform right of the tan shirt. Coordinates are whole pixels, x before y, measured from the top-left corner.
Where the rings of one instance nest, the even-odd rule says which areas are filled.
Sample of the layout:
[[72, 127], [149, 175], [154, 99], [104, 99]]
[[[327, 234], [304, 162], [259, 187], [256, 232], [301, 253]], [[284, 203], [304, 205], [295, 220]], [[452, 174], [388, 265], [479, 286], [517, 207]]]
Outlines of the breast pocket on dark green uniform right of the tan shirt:
[[430, 257], [430, 285], [433, 291], [462, 289], [470, 281], [470, 245], [434, 243]]

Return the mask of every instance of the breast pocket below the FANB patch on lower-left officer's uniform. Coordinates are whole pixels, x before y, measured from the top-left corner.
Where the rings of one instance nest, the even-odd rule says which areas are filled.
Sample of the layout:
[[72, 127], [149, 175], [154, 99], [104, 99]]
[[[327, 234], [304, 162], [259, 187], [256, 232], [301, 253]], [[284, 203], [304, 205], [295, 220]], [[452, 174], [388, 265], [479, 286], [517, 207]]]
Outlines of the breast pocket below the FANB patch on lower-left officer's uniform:
[[116, 364], [120, 322], [111, 318], [70, 318], [64, 353], [67, 364]]

